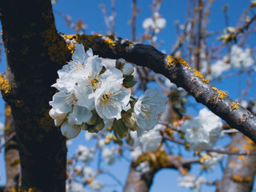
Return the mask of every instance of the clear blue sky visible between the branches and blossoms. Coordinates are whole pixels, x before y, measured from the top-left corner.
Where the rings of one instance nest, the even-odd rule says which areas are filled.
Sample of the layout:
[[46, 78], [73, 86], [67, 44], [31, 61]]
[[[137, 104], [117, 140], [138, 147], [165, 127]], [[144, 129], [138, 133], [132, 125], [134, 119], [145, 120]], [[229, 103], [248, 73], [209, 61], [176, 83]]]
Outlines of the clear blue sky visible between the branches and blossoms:
[[[236, 26], [239, 15], [242, 14], [244, 9], [249, 7], [249, 0], [216, 0], [214, 1], [214, 5], [211, 8], [211, 16], [210, 23], [208, 23], [208, 30], [212, 31], [221, 31], [225, 27], [224, 15], [222, 12], [222, 7], [224, 4], [229, 4], [228, 15], [230, 17], [230, 26]], [[102, 17], [102, 12], [99, 9], [99, 4], [105, 4], [108, 10], [108, 14], [110, 14], [110, 0], [59, 0], [54, 6], [53, 11], [56, 17], [56, 26], [59, 32], [65, 34], [75, 34], [71, 28], [65, 25], [65, 20], [61, 18], [60, 15], [56, 14], [57, 11], [63, 12], [64, 14], [70, 15], [73, 21], [78, 19], [83, 19], [84, 23], [88, 26], [86, 29], [87, 34], [91, 34], [91, 31], [97, 31], [98, 33], [105, 34], [106, 27], [104, 23], [104, 19]], [[141, 37], [143, 34], [142, 22], [145, 18], [151, 17], [151, 0], [138, 0], [138, 7], [140, 7], [140, 12], [138, 14], [138, 19], [136, 23], [136, 35], [137, 37]], [[173, 43], [176, 41], [176, 29], [174, 26], [174, 22], [179, 20], [180, 23], [184, 23], [186, 17], [186, 8], [187, 1], [180, 0], [163, 0], [162, 7], [160, 9], [160, 14], [162, 14], [163, 18], [167, 20], [166, 28], [158, 35], [159, 40], [164, 40], [165, 44], [159, 47], [159, 50], [166, 50], [167, 53], [170, 51]], [[116, 0], [116, 36], [130, 39], [131, 37], [131, 28], [129, 26], [129, 19], [132, 15], [132, 0]], [[253, 35], [255, 37], [255, 35]], [[212, 39], [211, 43], [214, 43], [216, 39]], [[255, 42], [252, 40], [249, 42], [251, 47], [255, 47]], [[6, 59], [4, 54], [1, 54], [2, 61], [0, 63], [1, 72], [5, 71], [6, 67]], [[244, 79], [246, 75], [242, 75], [242, 84], [244, 86]], [[253, 77], [255, 80], [255, 77]], [[238, 96], [237, 87], [230, 86], [230, 83], [233, 85], [237, 85], [238, 78], [233, 77], [225, 80], [224, 82], [214, 82], [218, 88], [225, 90], [229, 93], [229, 95], [236, 99]], [[249, 97], [255, 97], [255, 85], [253, 85], [252, 91], [249, 92]], [[190, 102], [195, 102], [194, 99], [189, 99]], [[4, 112], [4, 101], [0, 101], [1, 112]], [[202, 105], [198, 105], [198, 109], [202, 108]], [[197, 114], [197, 110], [192, 107], [188, 107], [190, 114]], [[0, 120], [4, 122], [4, 118], [0, 116]], [[86, 142], [84, 139], [84, 135], [80, 134], [80, 136], [76, 139], [73, 139], [72, 145], [69, 146], [68, 155], [72, 155], [76, 150], [78, 145], [94, 145], [93, 142]], [[0, 154], [0, 174], [1, 180], [0, 185], [5, 183], [5, 172], [4, 172], [4, 158], [3, 153]], [[124, 159], [118, 160], [118, 162], [113, 167], [108, 167], [108, 169], [113, 170], [113, 173], [118, 176], [123, 182], [125, 182], [127, 173], [129, 171], [129, 163]], [[199, 172], [198, 166], [193, 167], [193, 173]], [[216, 170], [213, 174], [209, 174], [207, 177], [209, 180], [213, 180], [214, 178], [221, 178], [221, 170], [219, 166], [216, 166]], [[154, 177], [154, 184], [152, 185], [151, 192], [167, 192], [170, 191], [189, 191], [186, 188], [178, 188], [177, 187], [177, 178], [178, 172], [176, 170], [164, 169], [160, 171]], [[114, 183], [113, 180], [106, 179], [102, 177], [104, 183]], [[103, 191], [111, 191], [113, 188], [106, 188]], [[117, 191], [121, 191], [120, 188], [116, 188]], [[202, 191], [215, 191], [213, 187], [204, 186]]]

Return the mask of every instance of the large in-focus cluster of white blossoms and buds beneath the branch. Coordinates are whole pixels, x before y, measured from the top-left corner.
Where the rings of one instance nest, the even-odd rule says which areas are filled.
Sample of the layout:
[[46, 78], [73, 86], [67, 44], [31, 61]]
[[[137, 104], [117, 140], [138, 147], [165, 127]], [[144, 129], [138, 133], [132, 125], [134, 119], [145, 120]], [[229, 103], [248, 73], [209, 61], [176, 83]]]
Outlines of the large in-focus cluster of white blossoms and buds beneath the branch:
[[135, 85], [134, 67], [124, 59], [105, 68], [102, 58], [75, 45], [72, 61], [58, 71], [59, 79], [52, 86], [57, 92], [50, 101], [49, 114], [67, 138], [77, 137], [80, 130], [92, 133], [112, 127], [115, 136], [126, 136], [128, 128], [149, 130], [165, 110], [166, 98], [157, 89], [147, 90], [139, 99], [131, 96]]

